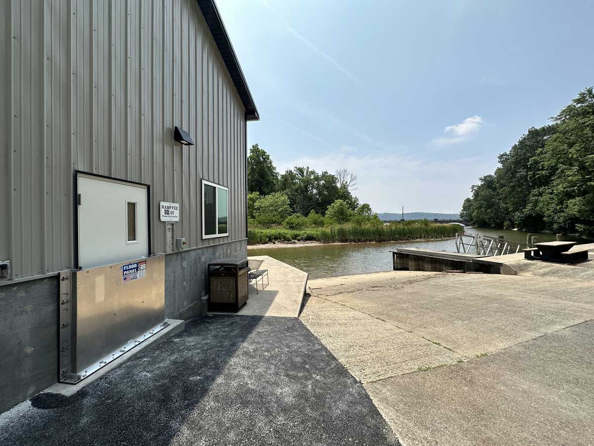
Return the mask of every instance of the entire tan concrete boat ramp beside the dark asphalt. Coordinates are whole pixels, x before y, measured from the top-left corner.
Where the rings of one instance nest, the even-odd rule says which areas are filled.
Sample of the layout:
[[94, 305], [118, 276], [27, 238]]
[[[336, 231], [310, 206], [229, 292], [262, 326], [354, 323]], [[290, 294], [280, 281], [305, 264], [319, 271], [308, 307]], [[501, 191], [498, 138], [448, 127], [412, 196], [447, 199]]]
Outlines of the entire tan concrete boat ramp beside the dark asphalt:
[[592, 282], [399, 271], [308, 290], [302, 321], [403, 445], [594, 444]]

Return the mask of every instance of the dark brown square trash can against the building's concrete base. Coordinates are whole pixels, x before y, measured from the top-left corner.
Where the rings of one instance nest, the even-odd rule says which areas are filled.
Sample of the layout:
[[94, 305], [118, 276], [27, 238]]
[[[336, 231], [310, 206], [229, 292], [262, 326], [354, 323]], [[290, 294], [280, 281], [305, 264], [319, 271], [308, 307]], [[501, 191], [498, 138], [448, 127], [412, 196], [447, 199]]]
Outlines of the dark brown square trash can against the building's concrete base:
[[248, 301], [248, 260], [208, 263], [208, 311], [237, 312]]

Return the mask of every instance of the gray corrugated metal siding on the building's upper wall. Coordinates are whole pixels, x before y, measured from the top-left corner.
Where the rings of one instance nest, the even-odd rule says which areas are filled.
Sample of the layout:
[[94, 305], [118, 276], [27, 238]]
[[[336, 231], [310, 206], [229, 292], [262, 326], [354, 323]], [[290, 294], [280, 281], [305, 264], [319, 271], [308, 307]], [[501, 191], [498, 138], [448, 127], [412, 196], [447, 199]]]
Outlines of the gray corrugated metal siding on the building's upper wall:
[[[10, 258], [13, 278], [72, 268], [75, 169], [151, 185], [153, 252], [165, 251], [160, 201], [180, 203], [174, 237], [189, 247], [245, 238], [245, 110], [194, 0], [2, 8], [12, 38], [0, 71], [11, 86], [0, 111], [11, 117], [0, 124], [10, 135], [0, 260]], [[175, 125], [196, 145], [175, 143]], [[229, 187], [229, 237], [201, 240], [202, 178]]]

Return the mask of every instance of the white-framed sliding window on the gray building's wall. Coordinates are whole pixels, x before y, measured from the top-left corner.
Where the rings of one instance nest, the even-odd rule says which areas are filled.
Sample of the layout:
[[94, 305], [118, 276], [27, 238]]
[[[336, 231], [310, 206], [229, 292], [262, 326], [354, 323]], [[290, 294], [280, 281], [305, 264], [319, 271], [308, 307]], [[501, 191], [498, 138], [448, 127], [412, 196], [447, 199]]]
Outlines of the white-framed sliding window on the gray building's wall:
[[229, 189], [202, 180], [202, 238], [229, 235]]

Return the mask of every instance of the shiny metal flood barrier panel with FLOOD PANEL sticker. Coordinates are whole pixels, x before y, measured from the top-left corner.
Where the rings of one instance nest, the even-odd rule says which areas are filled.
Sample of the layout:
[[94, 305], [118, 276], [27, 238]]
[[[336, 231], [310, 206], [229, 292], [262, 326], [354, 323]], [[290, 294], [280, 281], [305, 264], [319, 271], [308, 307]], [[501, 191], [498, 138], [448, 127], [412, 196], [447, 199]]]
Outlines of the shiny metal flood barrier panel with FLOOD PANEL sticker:
[[169, 324], [165, 256], [60, 273], [59, 380], [75, 384]]

